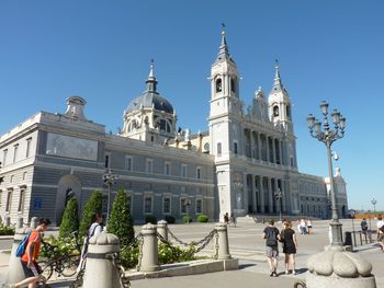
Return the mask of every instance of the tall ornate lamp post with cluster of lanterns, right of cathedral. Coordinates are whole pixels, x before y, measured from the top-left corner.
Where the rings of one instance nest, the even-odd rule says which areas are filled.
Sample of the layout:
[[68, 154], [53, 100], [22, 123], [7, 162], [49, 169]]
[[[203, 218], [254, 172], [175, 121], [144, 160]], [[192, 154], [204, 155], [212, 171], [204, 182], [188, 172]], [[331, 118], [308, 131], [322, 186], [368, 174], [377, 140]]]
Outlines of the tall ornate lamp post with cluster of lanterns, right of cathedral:
[[330, 227], [332, 231], [331, 245], [342, 246], [342, 224], [339, 221], [339, 215], [337, 210], [330, 147], [336, 140], [345, 136], [346, 118], [341, 116], [340, 112], [338, 112], [337, 110], [334, 110], [330, 116], [332, 118], [335, 129], [331, 129], [329, 127], [329, 122], [328, 122], [328, 103], [326, 101], [321, 102], [320, 110], [324, 115], [324, 123], [323, 123], [324, 129], [321, 130], [321, 123], [318, 119], [316, 119], [312, 114], [309, 114], [307, 117], [307, 124], [308, 124], [310, 136], [319, 140], [320, 142], [324, 142], [327, 147], [330, 197], [331, 197], [331, 204], [332, 204], [332, 220], [330, 222]]

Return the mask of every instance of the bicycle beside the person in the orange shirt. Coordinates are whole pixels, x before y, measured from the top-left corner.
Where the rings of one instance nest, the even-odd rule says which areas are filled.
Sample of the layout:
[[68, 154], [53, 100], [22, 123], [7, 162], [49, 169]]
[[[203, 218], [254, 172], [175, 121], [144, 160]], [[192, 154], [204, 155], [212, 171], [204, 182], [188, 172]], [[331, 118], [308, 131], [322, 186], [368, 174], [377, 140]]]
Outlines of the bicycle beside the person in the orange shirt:
[[[57, 257], [54, 260], [41, 261], [38, 263], [42, 269], [42, 276], [44, 277], [42, 283], [45, 284], [48, 281], [54, 272], [56, 272], [58, 277], [71, 277], [76, 274], [77, 267], [80, 264], [81, 244], [78, 241], [78, 231], [72, 232], [71, 235], [75, 238], [76, 253], [71, 253], [70, 255]], [[43, 245], [48, 251], [48, 254], [54, 254], [55, 251], [58, 250], [58, 246], [44, 241]]]

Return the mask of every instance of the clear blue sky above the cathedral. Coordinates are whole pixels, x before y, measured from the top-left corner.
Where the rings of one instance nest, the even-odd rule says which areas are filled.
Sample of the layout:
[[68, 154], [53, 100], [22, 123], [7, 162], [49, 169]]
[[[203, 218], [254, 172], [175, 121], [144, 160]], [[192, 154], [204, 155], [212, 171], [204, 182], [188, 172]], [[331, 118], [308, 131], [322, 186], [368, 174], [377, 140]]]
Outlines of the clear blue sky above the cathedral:
[[328, 175], [325, 146], [305, 118], [323, 100], [347, 117], [335, 143], [354, 209], [384, 209], [383, 1], [0, 1], [0, 135], [37, 111], [86, 115], [116, 133], [155, 59], [178, 126], [206, 130], [210, 76], [226, 24], [249, 104], [273, 83], [274, 59], [293, 102], [300, 171]]

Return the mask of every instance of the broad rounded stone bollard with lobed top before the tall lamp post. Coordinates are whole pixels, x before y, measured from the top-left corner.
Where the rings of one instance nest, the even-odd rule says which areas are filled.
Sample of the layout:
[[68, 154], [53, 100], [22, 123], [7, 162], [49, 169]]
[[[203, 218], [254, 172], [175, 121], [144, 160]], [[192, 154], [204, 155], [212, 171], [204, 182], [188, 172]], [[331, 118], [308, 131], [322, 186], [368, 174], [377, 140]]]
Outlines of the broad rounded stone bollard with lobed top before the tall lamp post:
[[360, 255], [345, 251], [341, 246], [329, 246], [307, 261], [308, 288], [376, 288], [372, 264]]

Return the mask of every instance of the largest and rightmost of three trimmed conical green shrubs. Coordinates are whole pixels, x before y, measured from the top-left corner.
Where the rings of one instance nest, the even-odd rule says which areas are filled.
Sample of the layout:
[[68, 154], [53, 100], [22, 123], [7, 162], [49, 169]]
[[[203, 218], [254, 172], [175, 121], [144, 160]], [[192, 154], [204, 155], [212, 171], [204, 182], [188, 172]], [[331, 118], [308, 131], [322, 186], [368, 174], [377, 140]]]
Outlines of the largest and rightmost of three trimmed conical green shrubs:
[[112, 212], [106, 230], [118, 237], [121, 246], [126, 246], [135, 239], [133, 220], [131, 217], [128, 194], [118, 189], [113, 201]]

